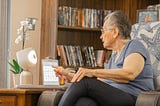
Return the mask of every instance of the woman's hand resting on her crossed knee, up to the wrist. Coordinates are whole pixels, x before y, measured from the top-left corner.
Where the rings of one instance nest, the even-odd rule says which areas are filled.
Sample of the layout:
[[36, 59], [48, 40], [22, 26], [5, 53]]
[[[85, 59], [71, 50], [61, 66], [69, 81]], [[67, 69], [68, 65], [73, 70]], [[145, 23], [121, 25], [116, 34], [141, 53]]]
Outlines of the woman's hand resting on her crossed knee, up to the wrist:
[[87, 69], [87, 68], [79, 68], [78, 72], [74, 75], [71, 82], [79, 82], [85, 76], [93, 77], [94, 69]]

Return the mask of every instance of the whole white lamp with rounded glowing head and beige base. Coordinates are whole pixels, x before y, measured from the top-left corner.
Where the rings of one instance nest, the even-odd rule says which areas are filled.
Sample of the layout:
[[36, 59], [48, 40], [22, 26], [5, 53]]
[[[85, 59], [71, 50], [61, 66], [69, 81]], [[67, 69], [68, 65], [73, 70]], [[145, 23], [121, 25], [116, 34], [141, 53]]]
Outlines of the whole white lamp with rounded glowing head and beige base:
[[31, 68], [37, 63], [35, 50], [25, 48], [16, 52], [17, 60], [23, 71], [20, 74], [20, 85], [33, 84], [33, 74]]

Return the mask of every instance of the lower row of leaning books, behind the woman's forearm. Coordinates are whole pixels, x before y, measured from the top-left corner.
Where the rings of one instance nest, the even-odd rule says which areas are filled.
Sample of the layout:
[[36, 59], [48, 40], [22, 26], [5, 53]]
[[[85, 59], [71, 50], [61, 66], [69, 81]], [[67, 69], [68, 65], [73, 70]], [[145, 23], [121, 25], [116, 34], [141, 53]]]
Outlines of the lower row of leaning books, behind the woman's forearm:
[[92, 46], [57, 45], [61, 65], [68, 67], [97, 67], [103, 66], [104, 52], [95, 52]]

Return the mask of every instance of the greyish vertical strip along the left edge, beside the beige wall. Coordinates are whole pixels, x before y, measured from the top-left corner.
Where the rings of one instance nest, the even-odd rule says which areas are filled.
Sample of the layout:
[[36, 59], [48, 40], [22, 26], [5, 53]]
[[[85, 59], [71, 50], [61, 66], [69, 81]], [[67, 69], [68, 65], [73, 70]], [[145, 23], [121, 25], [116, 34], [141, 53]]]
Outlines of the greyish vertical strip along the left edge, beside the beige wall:
[[8, 85], [9, 0], [0, 0], [0, 88]]

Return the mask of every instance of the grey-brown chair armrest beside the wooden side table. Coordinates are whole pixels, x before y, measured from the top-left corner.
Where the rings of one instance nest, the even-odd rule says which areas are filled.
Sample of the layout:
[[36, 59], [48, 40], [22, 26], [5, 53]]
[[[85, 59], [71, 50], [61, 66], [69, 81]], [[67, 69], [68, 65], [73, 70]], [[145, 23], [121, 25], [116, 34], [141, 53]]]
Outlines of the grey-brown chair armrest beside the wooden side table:
[[47, 90], [43, 91], [38, 100], [38, 106], [58, 106], [59, 100], [63, 93], [62, 90]]

